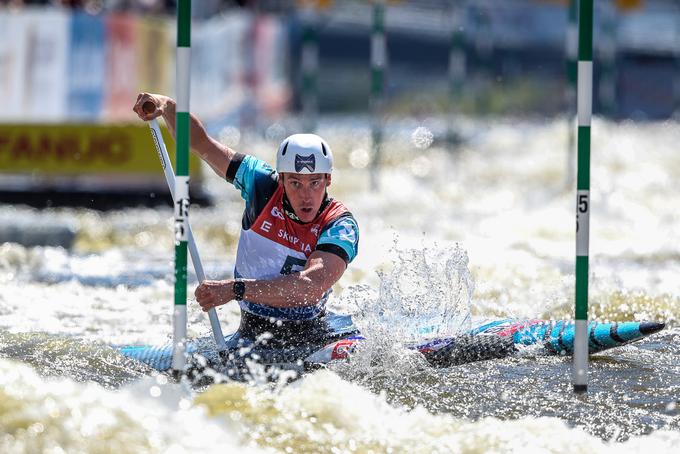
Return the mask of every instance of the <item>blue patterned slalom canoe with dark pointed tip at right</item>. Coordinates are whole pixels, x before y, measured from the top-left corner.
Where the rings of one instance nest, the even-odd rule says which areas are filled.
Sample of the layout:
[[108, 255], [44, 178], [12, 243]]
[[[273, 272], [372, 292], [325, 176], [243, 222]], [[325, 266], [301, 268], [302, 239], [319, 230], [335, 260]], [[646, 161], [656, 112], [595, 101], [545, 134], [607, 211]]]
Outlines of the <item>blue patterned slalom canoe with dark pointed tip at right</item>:
[[[589, 352], [598, 353], [620, 347], [658, 332], [663, 327], [663, 323], [655, 322], [590, 322], [588, 325]], [[238, 333], [233, 333], [225, 337], [228, 347], [225, 359], [227, 362], [243, 362], [244, 358], [254, 358], [267, 365], [295, 365], [299, 368], [347, 359], [356, 346], [364, 340], [364, 337], [357, 333], [348, 316], [335, 315], [333, 329], [335, 339], [324, 345], [286, 348], [268, 348], [266, 345], [253, 343], [240, 338]], [[572, 354], [574, 323], [566, 320], [487, 320], [476, 323], [464, 335], [428, 339], [409, 345], [410, 348], [423, 353], [433, 365], [439, 366], [508, 356], [522, 347], [531, 346], [543, 348], [549, 354]], [[136, 359], [156, 370], [167, 371], [171, 367], [172, 344], [116, 348], [124, 356]], [[442, 360], [443, 353], [449, 355], [449, 351], [453, 356], [446, 358], [450, 361]], [[210, 338], [189, 341], [187, 354], [191, 357], [200, 355], [207, 360], [208, 364], [220, 363], [220, 358]]]

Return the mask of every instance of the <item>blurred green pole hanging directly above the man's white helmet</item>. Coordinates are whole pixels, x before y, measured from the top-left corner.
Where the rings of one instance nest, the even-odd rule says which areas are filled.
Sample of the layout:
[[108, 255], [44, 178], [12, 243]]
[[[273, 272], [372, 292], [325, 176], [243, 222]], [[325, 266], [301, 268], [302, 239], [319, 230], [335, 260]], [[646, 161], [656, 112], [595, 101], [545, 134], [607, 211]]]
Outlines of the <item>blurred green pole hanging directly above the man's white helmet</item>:
[[316, 130], [318, 115], [317, 73], [319, 70], [319, 45], [316, 31], [316, 11], [312, 7], [303, 10], [302, 19], [302, 115], [305, 132]]

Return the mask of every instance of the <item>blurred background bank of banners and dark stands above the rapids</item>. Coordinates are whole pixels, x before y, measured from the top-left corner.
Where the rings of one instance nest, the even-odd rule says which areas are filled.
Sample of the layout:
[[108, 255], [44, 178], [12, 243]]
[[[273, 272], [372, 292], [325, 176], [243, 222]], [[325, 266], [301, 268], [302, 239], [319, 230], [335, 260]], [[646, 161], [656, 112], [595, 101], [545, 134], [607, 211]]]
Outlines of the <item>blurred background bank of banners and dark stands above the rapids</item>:
[[[245, 136], [276, 142], [328, 123], [370, 127], [370, 145], [351, 164], [372, 170], [377, 188], [391, 158], [383, 149], [405, 128], [417, 148], [453, 152], [475, 136], [465, 128], [471, 118], [564, 117], [569, 130], [575, 3], [194, 1], [191, 110], [237, 149]], [[167, 200], [131, 106], [140, 91], [174, 96], [175, 7], [0, 1], [2, 200]], [[680, 108], [680, 4], [597, 1], [594, 29], [594, 115], [672, 119]], [[573, 161], [568, 134], [565, 159]], [[193, 167], [194, 201], [209, 203]]]

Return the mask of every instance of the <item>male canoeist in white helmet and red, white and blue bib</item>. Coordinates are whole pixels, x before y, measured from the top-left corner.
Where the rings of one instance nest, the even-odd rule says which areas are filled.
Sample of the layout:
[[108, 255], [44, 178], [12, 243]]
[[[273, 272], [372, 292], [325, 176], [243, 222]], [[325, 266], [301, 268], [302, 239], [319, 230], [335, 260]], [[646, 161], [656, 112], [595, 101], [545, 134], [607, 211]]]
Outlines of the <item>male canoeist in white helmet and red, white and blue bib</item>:
[[[155, 109], [143, 108], [151, 102]], [[148, 107], [148, 104], [147, 104]], [[162, 116], [175, 131], [175, 101], [141, 93], [133, 110], [145, 121]], [[333, 154], [314, 134], [286, 138], [276, 170], [210, 137], [191, 115], [191, 148], [245, 200], [234, 279], [205, 280], [196, 288], [204, 311], [238, 301], [242, 337], [265, 332], [286, 344], [323, 340], [331, 287], [358, 251], [359, 227], [328, 196]]]

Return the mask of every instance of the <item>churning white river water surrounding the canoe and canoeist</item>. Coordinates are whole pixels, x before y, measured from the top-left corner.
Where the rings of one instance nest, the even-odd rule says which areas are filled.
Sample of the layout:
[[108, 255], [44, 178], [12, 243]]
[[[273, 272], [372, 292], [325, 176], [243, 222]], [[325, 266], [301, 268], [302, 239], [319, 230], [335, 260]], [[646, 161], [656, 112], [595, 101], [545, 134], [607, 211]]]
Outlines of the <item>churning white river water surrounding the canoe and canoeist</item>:
[[[455, 331], [467, 315], [573, 318], [566, 122], [462, 121], [455, 152], [431, 143], [427, 122], [400, 123], [379, 190], [369, 132], [337, 124], [320, 129], [336, 155], [331, 194], [361, 240], [331, 306], [370, 338], [350, 363], [288, 385], [174, 383], [109, 347], [169, 339], [171, 209], [4, 205], [3, 225], [76, 236], [66, 248], [0, 245], [0, 452], [677, 452], [678, 124], [594, 122], [589, 315], [667, 325], [592, 356], [585, 396], [571, 392], [570, 357], [528, 350], [433, 369], [400, 344], [414, 320]], [[235, 148], [271, 162], [276, 146]], [[243, 205], [219, 178], [205, 185], [215, 204], [192, 207], [191, 223], [208, 277], [227, 277]], [[197, 307], [191, 337], [210, 333]], [[238, 326], [235, 304], [218, 314], [225, 333]]]

